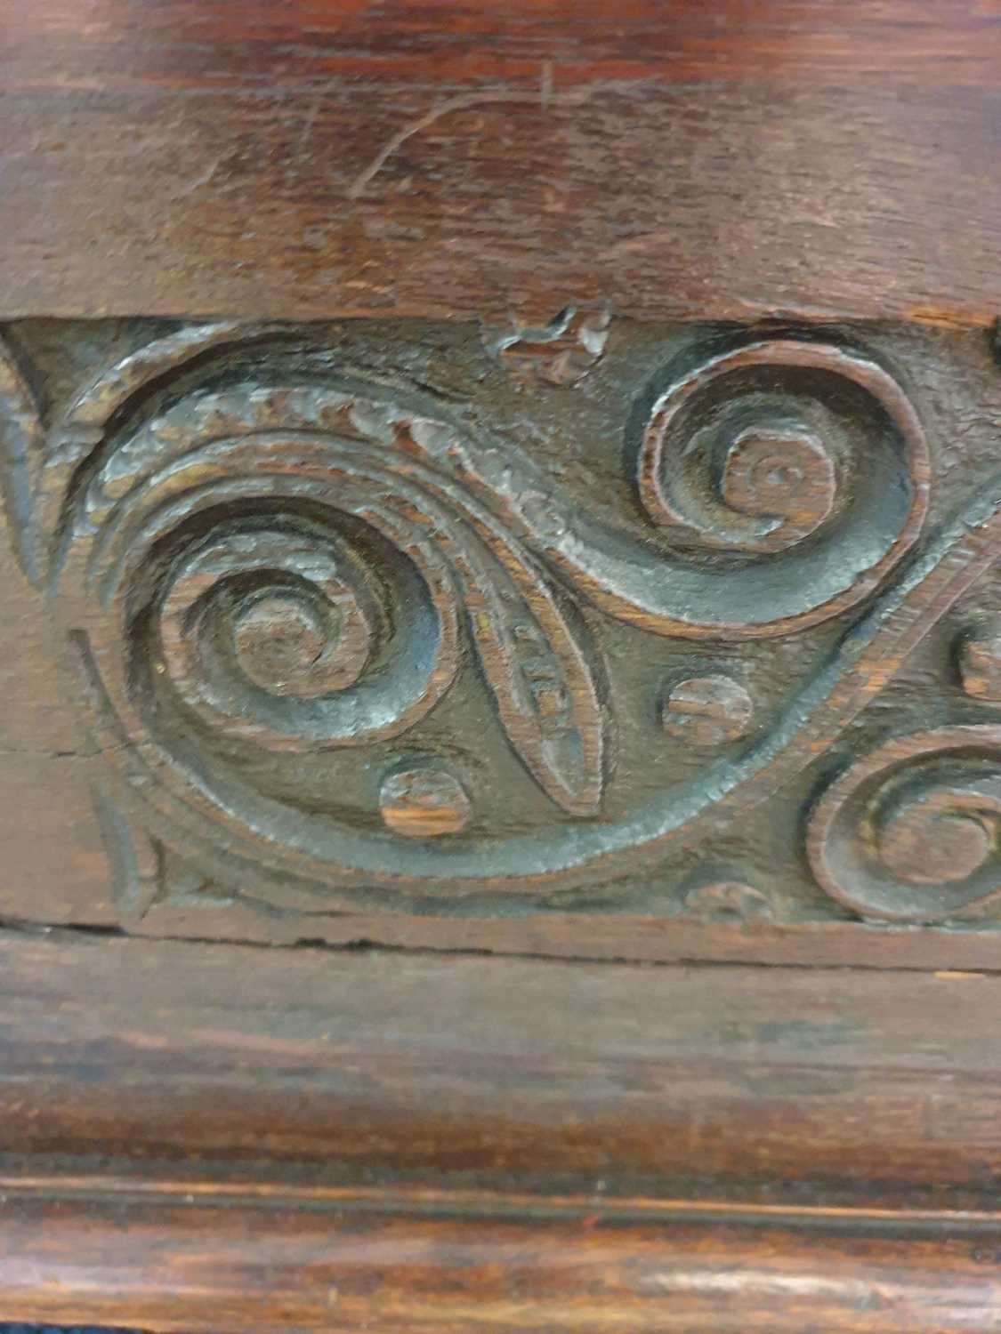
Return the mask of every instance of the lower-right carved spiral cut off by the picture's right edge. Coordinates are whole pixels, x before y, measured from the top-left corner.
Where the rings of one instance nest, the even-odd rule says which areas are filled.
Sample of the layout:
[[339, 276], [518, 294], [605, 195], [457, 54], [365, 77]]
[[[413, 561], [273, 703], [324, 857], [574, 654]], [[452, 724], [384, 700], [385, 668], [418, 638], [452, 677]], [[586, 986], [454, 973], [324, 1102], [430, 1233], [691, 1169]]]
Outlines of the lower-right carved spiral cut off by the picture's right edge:
[[1001, 727], [896, 738], [821, 796], [813, 871], [865, 916], [934, 922], [1001, 894]]

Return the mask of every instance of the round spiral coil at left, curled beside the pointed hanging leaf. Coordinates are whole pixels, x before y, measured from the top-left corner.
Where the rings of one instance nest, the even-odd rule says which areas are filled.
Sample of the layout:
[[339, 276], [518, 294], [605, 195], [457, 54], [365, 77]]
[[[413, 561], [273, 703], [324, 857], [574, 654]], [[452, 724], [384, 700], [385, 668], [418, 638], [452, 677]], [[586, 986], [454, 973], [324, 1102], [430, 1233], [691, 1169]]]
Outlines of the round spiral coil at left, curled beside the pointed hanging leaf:
[[[268, 443], [272, 468], [284, 447]], [[148, 584], [156, 570], [159, 584], [133, 682], [143, 662], [161, 662], [208, 723], [272, 748], [352, 746], [412, 726], [456, 670], [456, 608], [434, 550], [414, 538], [406, 556], [394, 546], [376, 564], [372, 543], [402, 543], [406, 530], [368, 515], [367, 542], [352, 531], [350, 516], [366, 507], [356, 487], [340, 488], [324, 523], [302, 508], [326, 492], [316, 479], [302, 476], [282, 511], [232, 516], [220, 511], [224, 467], [215, 480], [203, 483], [198, 522], [188, 516], [143, 571]], [[156, 548], [156, 524], [132, 540]]]

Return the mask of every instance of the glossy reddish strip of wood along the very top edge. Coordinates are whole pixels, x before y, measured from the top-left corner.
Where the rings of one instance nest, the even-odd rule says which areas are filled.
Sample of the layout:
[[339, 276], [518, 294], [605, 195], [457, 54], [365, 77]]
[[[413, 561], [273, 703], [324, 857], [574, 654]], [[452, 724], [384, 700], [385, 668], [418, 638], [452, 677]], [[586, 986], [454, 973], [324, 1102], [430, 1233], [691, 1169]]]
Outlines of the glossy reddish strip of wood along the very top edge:
[[[610, 16], [605, 0], [451, 3], [391, 0], [378, 13], [360, 0], [232, 7], [204, 0], [198, 21], [168, 0], [151, 31], [135, 0], [73, 0], [4, 15], [5, 60], [19, 88], [127, 89], [145, 80], [165, 88], [260, 91], [270, 59], [290, 87], [368, 73], [400, 80], [535, 73], [533, 61], [558, 49], [569, 69], [606, 77], [651, 73], [694, 80], [817, 79], [869, 83], [932, 75], [953, 85], [990, 81], [998, 13], [990, 0], [721, 0], [707, 13], [691, 3], [626, 0]], [[144, 40], [140, 40], [144, 39]], [[123, 52], [128, 60], [123, 63]]]

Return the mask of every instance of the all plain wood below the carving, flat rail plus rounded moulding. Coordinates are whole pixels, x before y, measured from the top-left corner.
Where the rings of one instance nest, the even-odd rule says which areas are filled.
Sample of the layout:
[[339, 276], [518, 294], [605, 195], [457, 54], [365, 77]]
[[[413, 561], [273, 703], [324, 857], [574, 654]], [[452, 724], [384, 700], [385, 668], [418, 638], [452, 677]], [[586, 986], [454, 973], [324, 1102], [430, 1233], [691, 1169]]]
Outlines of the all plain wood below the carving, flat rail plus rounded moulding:
[[978, 1330], [1001, 980], [8, 935], [8, 1318]]

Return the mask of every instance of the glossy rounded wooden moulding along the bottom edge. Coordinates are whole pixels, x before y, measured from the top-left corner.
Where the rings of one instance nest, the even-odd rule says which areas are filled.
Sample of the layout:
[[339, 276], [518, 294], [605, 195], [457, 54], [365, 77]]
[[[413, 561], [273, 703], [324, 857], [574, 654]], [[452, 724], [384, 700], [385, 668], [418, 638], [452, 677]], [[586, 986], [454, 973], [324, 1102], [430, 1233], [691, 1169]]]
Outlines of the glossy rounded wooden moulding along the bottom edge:
[[1001, 1217], [699, 1217], [638, 1201], [454, 1203], [7, 1189], [8, 1318], [176, 1334], [609, 1329], [966, 1334], [997, 1315]]

